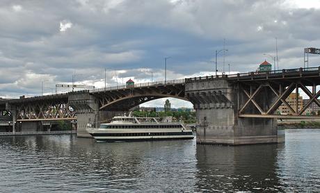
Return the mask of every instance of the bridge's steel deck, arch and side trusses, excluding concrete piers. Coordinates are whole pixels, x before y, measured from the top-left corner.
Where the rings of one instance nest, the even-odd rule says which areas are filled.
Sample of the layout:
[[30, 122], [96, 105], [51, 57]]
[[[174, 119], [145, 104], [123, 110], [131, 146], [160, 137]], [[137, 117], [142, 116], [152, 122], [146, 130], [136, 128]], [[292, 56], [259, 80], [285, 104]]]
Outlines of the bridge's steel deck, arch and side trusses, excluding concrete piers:
[[[239, 117], [315, 119], [303, 112], [312, 104], [320, 106], [320, 67], [282, 69], [271, 72], [248, 72], [232, 75], [185, 78], [174, 81], [161, 81], [104, 87], [100, 89], [68, 92], [40, 97], [0, 100], [0, 116], [16, 116], [17, 121], [74, 120], [77, 109], [70, 102], [70, 95], [87, 93], [99, 100], [99, 110], [129, 110], [135, 106], [160, 99], [174, 97], [194, 101], [185, 94], [185, 85], [194, 82], [226, 80], [245, 97], [233, 101], [237, 105]], [[311, 89], [310, 89], [311, 88]], [[310, 99], [303, 108], [298, 108], [298, 94], [302, 90]], [[292, 92], [296, 93], [296, 106], [287, 103]], [[196, 97], [193, 96], [193, 97]], [[214, 94], [207, 94], [208, 101], [214, 101]], [[211, 100], [212, 98], [212, 100]], [[266, 103], [269, 101], [269, 103]], [[77, 103], [77, 102], [76, 102]], [[79, 101], [81, 103], [81, 101]], [[284, 104], [290, 110], [289, 115], [278, 115], [277, 109]]]

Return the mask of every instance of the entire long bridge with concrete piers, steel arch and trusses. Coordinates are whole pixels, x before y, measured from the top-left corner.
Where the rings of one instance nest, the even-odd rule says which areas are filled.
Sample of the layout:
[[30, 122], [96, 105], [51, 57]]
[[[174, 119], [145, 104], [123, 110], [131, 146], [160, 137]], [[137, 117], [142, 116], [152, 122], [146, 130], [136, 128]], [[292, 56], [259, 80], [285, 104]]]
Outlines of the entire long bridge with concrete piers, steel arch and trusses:
[[[13, 131], [16, 124], [26, 128], [39, 121], [77, 120], [77, 135], [88, 137], [88, 123], [99, 126], [147, 101], [173, 97], [193, 103], [198, 143], [271, 143], [279, 140], [277, 119], [318, 118], [303, 112], [312, 103], [320, 106], [319, 84], [320, 67], [282, 69], [20, 97], [0, 100], [0, 111], [10, 112], [6, 115], [12, 119]], [[298, 107], [299, 90], [310, 97], [303, 108]], [[296, 93], [296, 106], [286, 101], [292, 92]], [[278, 114], [282, 104], [290, 110], [289, 115]]]

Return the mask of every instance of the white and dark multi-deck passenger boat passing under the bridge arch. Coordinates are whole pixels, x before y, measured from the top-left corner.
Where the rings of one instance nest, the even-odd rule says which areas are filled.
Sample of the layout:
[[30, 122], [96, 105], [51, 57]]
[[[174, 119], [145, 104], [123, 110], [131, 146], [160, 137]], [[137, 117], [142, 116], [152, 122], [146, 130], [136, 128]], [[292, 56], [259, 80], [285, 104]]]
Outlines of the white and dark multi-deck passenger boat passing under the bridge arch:
[[111, 123], [86, 130], [97, 141], [192, 140], [193, 133], [182, 123], [160, 122], [154, 117], [113, 117]]

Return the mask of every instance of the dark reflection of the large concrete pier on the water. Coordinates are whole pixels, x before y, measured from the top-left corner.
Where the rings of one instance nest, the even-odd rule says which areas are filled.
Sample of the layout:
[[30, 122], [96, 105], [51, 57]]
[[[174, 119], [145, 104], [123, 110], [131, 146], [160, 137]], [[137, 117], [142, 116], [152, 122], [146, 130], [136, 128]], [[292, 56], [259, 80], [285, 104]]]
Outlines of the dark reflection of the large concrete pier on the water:
[[281, 191], [276, 174], [283, 144], [197, 146], [200, 190]]

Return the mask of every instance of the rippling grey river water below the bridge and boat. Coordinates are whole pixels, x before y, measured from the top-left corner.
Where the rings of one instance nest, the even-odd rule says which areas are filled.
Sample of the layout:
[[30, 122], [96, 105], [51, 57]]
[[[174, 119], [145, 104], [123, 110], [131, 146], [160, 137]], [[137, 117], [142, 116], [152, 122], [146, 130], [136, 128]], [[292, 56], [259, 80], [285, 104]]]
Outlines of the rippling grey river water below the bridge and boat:
[[285, 144], [0, 137], [0, 192], [320, 192], [320, 129]]

